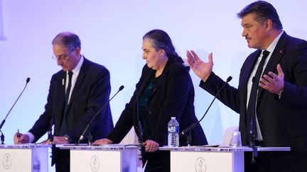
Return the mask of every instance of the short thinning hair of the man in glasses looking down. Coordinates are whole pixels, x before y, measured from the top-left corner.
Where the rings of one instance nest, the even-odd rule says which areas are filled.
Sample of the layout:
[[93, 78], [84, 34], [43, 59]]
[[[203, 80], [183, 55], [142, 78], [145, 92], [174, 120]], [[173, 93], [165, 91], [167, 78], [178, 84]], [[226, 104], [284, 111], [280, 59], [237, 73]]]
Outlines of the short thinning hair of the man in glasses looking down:
[[52, 45], [55, 44], [64, 45], [65, 47], [68, 47], [70, 51], [74, 50], [76, 47], [81, 49], [81, 41], [75, 33], [59, 33], [52, 41]]

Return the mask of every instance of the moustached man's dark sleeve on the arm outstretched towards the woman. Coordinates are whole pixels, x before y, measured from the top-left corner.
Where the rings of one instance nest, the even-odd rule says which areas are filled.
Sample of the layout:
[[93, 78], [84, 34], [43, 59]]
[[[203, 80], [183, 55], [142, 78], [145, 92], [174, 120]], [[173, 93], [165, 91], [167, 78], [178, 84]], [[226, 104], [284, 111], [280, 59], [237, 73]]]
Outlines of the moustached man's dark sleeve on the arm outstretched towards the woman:
[[[200, 87], [208, 91], [212, 96], [217, 94], [217, 91], [220, 90], [222, 85], [225, 84], [225, 81], [220, 79], [219, 76], [215, 75], [212, 71], [207, 81], [203, 82], [200, 81]], [[229, 108], [234, 110], [236, 113], [239, 113], [240, 108], [240, 96], [239, 90], [226, 84], [224, 88], [220, 91], [217, 95], [217, 99], [220, 100], [222, 103], [227, 105]]]

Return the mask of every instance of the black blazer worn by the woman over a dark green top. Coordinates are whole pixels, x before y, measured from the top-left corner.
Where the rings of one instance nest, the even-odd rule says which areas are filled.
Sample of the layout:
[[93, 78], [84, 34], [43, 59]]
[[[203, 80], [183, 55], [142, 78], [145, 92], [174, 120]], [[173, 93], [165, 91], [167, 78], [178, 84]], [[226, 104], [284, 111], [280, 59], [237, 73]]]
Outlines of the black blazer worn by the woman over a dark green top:
[[[139, 136], [136, 114], [136, 100], [154, 79], [155, 70], [144, 66], [139, 83], [136, 84], [136, 91], [132, 96], [126, 108], [119, 117], [114, 130], [110, 132], [108, 139], [115, 143], [119, 143], [132, 125]], [[159, 84], [154, 88], [154, 92], [149, 98], [146, 108], [146, 115], [149, 121], [151, 137], [160, 146], [167, 145], [168, 138], [168, 122], [172, 116], [176, 117], [179, 122], [180, 130], [196, 122], [198, 119], [194, 111], [194, 88], [188, 70], [180, 62], [173, 62], [168, 59], [166, 67], [161, 74]], [[145, 142], [145, 140], [144, 140]], [[205, 134], [200, 125], [192, 131], [192, 144], [203, 145], [208, 144]], [[186, 145], [185, 138], [180, 139], [180, 145]]]

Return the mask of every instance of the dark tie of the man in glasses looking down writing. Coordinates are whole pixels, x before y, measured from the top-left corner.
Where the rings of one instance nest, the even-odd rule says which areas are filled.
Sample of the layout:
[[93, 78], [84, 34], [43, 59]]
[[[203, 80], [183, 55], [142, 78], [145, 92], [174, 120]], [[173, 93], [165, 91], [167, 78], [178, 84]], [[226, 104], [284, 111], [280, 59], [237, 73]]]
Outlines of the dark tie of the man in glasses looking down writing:
[[60, 136], [66, 134], [66, 113], [68, 112], [68, 105], [69, 105], [69, 95], [70, 95], [70, 88], [72, 82], [72, 71], [68, 71], [68, 88], [65, 92], [65, 99], [64, 99], [64, 112], [62, 115], [62, 123], [60, 127]]

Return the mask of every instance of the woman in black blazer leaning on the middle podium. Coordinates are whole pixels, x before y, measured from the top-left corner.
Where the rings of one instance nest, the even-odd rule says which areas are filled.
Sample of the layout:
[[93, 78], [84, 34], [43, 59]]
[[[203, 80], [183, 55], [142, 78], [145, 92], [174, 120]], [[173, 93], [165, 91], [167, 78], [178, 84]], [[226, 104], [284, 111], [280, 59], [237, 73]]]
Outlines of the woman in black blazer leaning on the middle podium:
[[[170, 171], [168, 151], [158, 151], [167, 145], [168, 122], [176, 117], [180, 130], [198, 119], [194, 111], [194, 88], [188, 69], [163, 30], [151, 30], [143, 37], [143, 59], [146, 60], [136, 91], [119, 117], [114, 130], [94, 144], [119, 143], [132, 125], [144, 146], [145, 171]], [[138, 115], [139, 114], [139, 115]], [[208, 144], [200, 125], [191, 132], [192, 145]], [[180, 139], [185, 146], [185, 138]]]

